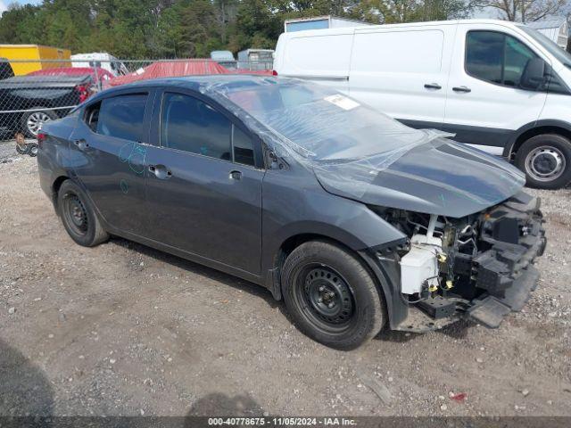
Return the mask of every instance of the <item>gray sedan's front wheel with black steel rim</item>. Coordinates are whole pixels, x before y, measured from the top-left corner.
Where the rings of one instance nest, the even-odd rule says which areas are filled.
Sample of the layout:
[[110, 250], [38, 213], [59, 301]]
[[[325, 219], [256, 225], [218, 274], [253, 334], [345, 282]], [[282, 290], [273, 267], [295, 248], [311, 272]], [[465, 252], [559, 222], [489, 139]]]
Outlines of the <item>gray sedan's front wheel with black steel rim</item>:
[[302, 243], [285, 259], [285, 306], [298, 328], [338, 349], [354, 349], [385, 325], [385, 304], [367, 268], [334, 243]]

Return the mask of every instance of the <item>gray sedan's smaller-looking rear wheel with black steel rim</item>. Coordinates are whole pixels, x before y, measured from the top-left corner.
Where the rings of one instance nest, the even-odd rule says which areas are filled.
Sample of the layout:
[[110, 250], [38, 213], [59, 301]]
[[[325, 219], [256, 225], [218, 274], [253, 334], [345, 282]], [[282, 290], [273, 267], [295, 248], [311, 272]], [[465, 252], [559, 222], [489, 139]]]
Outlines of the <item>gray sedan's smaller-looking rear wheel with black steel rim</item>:
[[109, 239], [86, 193], [65, 180], [57, 193], [57, 210], [71, 239], [84, 247], [93, 247]]

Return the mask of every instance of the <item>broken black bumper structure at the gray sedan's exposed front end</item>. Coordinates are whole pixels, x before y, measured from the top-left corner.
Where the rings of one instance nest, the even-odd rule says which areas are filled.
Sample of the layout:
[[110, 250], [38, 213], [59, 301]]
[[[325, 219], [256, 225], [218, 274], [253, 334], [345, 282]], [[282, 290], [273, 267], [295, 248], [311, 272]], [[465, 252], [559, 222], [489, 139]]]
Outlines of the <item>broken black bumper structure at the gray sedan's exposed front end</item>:
[[518, 193], [485, 214], [481, 241], [490, 248], [473, 259], [473, 279], [484, 293], [471, 300], [469, 318], [495, 328], [511, 311], [521, 310], [539, 272], [534, 259], [546, 246], [540, 200]]

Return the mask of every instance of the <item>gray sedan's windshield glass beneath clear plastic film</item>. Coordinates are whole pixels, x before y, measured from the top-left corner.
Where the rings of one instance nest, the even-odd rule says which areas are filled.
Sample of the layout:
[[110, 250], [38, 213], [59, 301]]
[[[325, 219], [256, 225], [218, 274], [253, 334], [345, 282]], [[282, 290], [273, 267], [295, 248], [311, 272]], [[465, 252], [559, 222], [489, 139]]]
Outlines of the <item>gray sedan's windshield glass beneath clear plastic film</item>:
[[354, 160], [425, 143], [426, 131], [325, 86], [295, 79], [260, 79], [228, 85], [225, 95], [296, 152], [318, 161]]

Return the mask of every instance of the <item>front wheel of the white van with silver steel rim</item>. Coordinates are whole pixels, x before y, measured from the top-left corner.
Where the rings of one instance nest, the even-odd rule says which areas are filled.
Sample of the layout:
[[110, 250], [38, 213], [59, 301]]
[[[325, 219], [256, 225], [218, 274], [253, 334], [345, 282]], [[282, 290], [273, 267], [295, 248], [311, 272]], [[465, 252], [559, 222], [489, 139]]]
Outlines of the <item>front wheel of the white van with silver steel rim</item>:
[[557, 134], [534, 136], [517, 151], [516, 165], [530, 187], [564, 187], [571, 182], [571, 142]]

